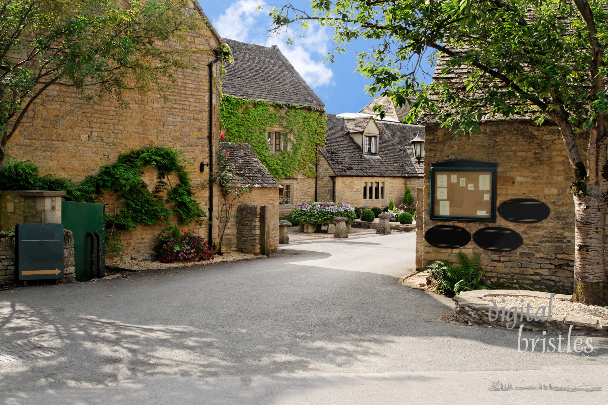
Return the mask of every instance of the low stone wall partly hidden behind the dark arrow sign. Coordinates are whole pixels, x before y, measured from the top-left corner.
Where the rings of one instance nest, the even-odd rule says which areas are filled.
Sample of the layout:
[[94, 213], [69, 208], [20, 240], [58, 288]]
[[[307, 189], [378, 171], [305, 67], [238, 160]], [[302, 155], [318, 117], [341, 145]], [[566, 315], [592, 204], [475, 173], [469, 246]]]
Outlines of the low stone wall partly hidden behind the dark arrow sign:
[[[76, 280], [74, 268], [74, 237], [71, 230], [63, 231], [63, 279]], [[15, 280], [15, 238], [0, 238], [0, 286], [13, 285]]]

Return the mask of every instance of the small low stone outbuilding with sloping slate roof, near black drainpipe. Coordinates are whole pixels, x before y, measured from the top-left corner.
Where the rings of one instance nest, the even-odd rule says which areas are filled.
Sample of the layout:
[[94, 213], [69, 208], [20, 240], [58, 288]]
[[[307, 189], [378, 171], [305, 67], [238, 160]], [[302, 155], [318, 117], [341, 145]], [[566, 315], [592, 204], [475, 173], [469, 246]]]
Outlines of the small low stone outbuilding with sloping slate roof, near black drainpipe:
[[[231, 196], [227, 198], [227, 202], [232, 203], [230, 215], [237, 214], [237, 207], [240, 204], [249, 204], [257, 207], [268, 206], [270, 251], [278, 251], [278, 195], [281, 185], [272, 177], [266, 167], [261, 164], [260, 159], [255, 156], [251, 145], [237, 144], [235, 142], [222, 142], [219, 145], [219, 150], [220, 153], [228, 153], [226, 167], [235, 175], [232, 186], [237, 188], [247, 187], [249, 189], [249, 192], [244, 193], [241, 198], [232, 199]], [[228, 212], [226, 209], [227, 206], [220, 202], [218, 213], [224, 212], [225, 217]], [[252, 216], [255, 216], [255, 210]], [[258, 241], [259, 243], [258, 235], [259, 234], [255, 232], [255, 226], [253, 231], [247, 229], [247, 232], [244, 232], [242, 229], [238, 228], [235, 221], [230, 220], [227, 224], [226, 232], [224, 233], [222, 248], [226, 251], [242, 251], [243, 249], [241, 249], [240, 246], [237, 246], [238, 238], [246, 237], [253, 239], [254, 242]], [[258, 248], [257, 252], [255, 252], [255, 250], [251, 252], [259, 253], [260, 251]]]

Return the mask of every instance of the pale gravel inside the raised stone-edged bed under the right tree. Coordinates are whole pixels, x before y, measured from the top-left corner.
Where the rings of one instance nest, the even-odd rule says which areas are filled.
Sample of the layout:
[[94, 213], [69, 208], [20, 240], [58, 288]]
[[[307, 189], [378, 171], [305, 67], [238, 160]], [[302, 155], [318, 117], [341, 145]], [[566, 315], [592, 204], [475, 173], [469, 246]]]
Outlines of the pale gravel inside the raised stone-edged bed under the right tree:
[[[522, 306], [520, 300], [523, 299], [523, 310], [526, 310], [528, 302], [530, 303], [530, 314], [536, 313], [536, 309], [539, 306], [545, 306], [548, 308], [549, 300], [540, 297], [522, 297], [522, 296], [489, 296], [483, 297], [483, 300], [489, 301], [490, 299], [496, 302], [496, 305], [505, 306], [505, 308], [511, 308], [512, 306]], [[502, 300], [505, 300], [503, 303]], [[600, 319], [608, 319], [608, 308], [598, 305], [585, 305], [578, 302], [564, 301], [559, 299], [553, 299], [551, 302], [551, 317], [565, 317], [565, 316], [582, 316], [582, 317], [595, 317]]]

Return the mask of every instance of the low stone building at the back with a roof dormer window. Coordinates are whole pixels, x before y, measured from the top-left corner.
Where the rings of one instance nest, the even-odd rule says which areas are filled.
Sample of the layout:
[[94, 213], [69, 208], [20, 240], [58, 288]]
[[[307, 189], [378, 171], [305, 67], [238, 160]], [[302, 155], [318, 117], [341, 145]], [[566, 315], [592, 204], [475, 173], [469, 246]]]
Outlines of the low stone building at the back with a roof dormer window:
[[399, 204], [406, 187], [415, 197], [424, 161], [413, 157], [410, 141], [416, 135], [424, 139], [424, 126], [352, 115], [327, 117], [325, 147], [319, 148], [319, 199], [384, 208], [390, 200]]

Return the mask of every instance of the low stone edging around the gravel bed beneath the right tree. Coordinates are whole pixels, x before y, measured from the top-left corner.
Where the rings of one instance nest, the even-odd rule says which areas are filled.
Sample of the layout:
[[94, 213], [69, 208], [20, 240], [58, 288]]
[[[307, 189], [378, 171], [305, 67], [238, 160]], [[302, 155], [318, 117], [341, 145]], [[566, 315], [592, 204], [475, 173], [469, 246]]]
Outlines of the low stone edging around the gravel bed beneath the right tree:
[[[494, 307], [491, 302], [483, 300], [484, 297], [493, 296], [517, 296], [517, 297], [534, 297], [548, 299], [551, 294], [541, 291], [525, 291], [513, 289], [477, 289], [474, 291], [463, 291], [460, 295], [452, 298], [456, 302], [454, 313], [456, 319], [460, 322], [471, 322], [478, 325], [497, 325], [506, 327], [505, 322], [497, 320], [491, 321], [488, 318], [490, 308]], [[572, 301], [572, 296], [565, 294], [555, 294], [553, 300]], [[498, 305], [499, 303], [497, 303]], [[507, 308], [508, 309], [508, 308]], [[608, 319], [597, 317], [582, 317], [582, 316], [551, 316], [551, 320], [547, 322], [547, 317], [539, 321], [528, 321], [524, 318], [522, 322], [525, 330], [549, 330], [549, 331], [568, 331], [570, 325], [573, 325], [573, 330], [582, 331], [590, 334], [602, 334], [608, 336]], [[519, 329], [519, 327], [517, 327]]]

